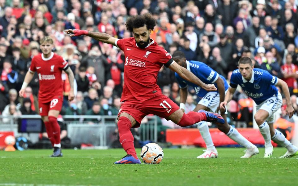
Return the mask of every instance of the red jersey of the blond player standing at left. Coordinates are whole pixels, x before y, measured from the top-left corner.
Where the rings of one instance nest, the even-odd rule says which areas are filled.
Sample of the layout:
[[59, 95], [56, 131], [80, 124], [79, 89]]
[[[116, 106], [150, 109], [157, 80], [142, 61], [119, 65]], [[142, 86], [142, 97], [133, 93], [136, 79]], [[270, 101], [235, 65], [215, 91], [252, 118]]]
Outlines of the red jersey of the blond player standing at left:
[[38, 100], [47, 103], [52, 97], [63, 96], [63, 84], [61, 79], [62, 70], [68, 63], [54, 52], [49, 58], [44, 58], [43, 54], [35, 55], [31, 61], [30, 72], [37, 71], [39, 80]]

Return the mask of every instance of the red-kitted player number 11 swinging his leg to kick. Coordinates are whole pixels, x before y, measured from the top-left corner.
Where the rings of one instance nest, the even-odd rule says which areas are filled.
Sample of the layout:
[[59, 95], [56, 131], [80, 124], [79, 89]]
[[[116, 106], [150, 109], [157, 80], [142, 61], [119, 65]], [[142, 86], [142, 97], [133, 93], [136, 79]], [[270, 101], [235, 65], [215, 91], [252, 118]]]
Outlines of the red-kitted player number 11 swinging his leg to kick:
[[185, 114], [178, 105], [161, 93], [156, 84], [157, 74], [162, 67], [177, 72], [182, 78], [206, 89], [216, 91], [214, 85], [206, 85], [187, 69], [173, 61], [171, 55], [159, 47], [150, 38], [156, 20], [151, 14], [130, 17], [126, 28], [133, 32], [134, 37], [117, 39], [106, 33], [91, 32], [87, 30], [65, 31], [70, 37], [87, 35], [98, 41], [112, 44], [124, 51], [124, 87], [121, 97], [121, 106], [118, 113], [118, 130], [120, 144], [127, 156], [115, 162], [116, 164], [141, 163], [133, 145], [132, 127], [139, 127], [142, 118], [154, 114], [172, 120], [179, 126], [190, 126], [200, 121], [224, 123], [224, 119], [216, 113], [206, 111], [189, 112]]

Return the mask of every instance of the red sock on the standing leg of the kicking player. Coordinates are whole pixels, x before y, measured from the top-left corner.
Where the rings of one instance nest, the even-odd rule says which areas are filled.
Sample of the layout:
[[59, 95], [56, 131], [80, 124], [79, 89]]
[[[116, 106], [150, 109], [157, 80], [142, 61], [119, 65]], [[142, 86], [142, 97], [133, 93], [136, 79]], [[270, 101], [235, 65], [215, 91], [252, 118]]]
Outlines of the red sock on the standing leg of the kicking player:
[[133, 145], [133, 135], [130, 131], [131, 122], [127, 117], [120, 117], [118, 120], [118, 131], [120, 136], [120, 144], [127, 154], [131, 154], [134, 158], [138, 159], [136, 150]]

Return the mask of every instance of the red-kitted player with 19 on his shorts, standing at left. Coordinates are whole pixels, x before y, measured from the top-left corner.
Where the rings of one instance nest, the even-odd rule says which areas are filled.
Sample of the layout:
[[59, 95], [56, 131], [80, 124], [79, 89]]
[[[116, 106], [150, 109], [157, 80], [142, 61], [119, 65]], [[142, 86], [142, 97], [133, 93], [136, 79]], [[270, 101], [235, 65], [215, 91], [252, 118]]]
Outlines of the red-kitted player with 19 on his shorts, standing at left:
[[53, 40], [46, 36], [40, 41], [41, 54], [35, 55], [31, 61], [29, 71], [26, 73], [25, 80], [19, 95], [23, 97], [25, 88], [32, 80], [34, 72], [38, 73], [39, 91], [38, 107], [39, 115], [45, 124], [47, 135], [54, 147], [52, 157], [60, 157], [60, 126], [57, 117], [62, 108], [63, 84], [61, 79], [62, 70], [67, 73], [70, 82], [70, 93], [68, 100], [74, 99], [74, 74], [68, 63], [59, 55], [52, 52]]

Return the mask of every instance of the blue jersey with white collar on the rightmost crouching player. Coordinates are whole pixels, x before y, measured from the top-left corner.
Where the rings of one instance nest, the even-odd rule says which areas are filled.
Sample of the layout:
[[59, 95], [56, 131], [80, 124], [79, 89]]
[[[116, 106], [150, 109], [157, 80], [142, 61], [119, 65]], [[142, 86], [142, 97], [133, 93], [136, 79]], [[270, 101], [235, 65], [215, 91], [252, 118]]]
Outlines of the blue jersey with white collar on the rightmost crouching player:
[[239, 69], [234, 70], [231, 76], [230, 86], [236, 88], [240, 85], [247, 96], [251, 97], [256, 104], [261, 104], [272, 96], [277, 96], [276, 85], [278, 78], [262, 69], [253, 69], [251, 80], [244, 79]]

